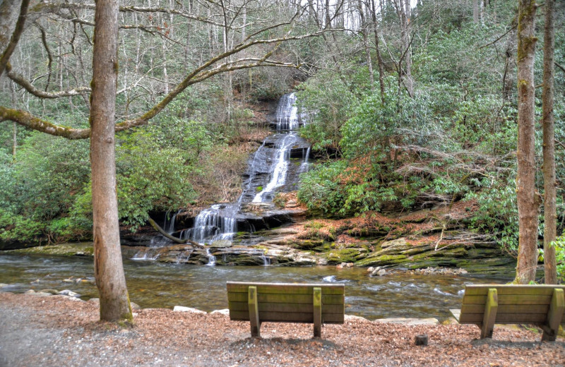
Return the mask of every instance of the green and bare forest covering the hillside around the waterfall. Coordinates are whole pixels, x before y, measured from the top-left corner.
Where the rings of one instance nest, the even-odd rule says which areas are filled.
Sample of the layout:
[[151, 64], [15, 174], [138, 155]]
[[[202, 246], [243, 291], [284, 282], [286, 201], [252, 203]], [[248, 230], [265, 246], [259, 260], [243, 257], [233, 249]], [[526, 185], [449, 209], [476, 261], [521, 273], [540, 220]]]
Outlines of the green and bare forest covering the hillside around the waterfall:
[[[9, 61], [0, 59], [0, 247], [90, 241], [95, 5], [23, 3], [28, 19]], [[542, 262], [547, 18], [539, 5], [533, 187]], [[551, 246], [563, 282], [565, 4], [552, 13]], [[299, 134], [316, 157], [297, 190], [309, 218], [465, 203], [465, 234], [516, 256], [520, 21], [511, 0], [120, 1], [112, 124], [121, 228], [236, 201], [249, 156], [269, 133], [265, 106], [295, 92]]]

